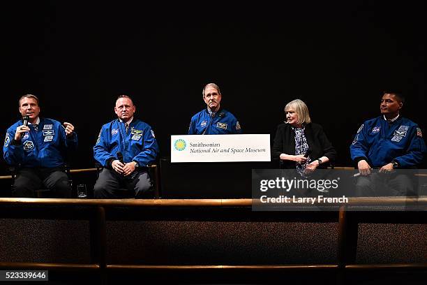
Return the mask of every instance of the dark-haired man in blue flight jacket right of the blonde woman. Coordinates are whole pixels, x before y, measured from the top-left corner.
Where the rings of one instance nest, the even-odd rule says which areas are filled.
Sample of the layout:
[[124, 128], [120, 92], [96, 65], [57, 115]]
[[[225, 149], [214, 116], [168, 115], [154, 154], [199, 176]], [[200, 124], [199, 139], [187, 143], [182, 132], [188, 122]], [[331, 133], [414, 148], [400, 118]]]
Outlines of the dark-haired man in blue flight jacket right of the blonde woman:
[[[421, 129], [410, 119], [401, 117], [405, 98], [399, 92], [384, 92], [381, 116], [364, 122], [350, 146], [357, 163], [357, 196], [415, 195], [410, 177], [396, 169], [417, 168], [426, 153]], [[371, 173], [379, 168], [378, 173]]]

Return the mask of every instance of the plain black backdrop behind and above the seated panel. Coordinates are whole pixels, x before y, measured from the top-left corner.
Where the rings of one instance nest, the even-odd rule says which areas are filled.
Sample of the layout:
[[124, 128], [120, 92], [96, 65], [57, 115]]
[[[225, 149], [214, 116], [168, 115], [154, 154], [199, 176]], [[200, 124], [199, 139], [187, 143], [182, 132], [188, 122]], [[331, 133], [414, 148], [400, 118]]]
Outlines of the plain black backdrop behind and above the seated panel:
[[170, 5], [3, 6], [2, 138], [19, 119], [18, 98], [35, 94], [41, 115], [75, 125], [72, 167], [91, 168], [100, 127], [128, 94], [170, 156], [170, 135], [187, 132], [208, 82], [244, 133], [270, 133], [271, 142], [285, 104], [301, 98], [336, 147], [337, 166], [352, 165], [348, 146], [379, 115], [384, 89], [405, 92], [402, 113], [425, 133], [426, 4]]

